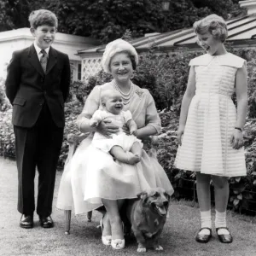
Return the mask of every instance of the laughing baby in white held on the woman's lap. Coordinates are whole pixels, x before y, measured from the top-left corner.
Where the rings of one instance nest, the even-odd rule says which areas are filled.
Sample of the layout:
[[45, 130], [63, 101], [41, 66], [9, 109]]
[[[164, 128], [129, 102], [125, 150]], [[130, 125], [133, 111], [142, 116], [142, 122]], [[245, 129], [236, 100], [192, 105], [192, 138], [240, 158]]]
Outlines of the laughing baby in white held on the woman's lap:
[[[96, 127], [103, 119], [109, 119], [113, 125], [119, 127], [119, 132], [106, 137], [96, 131], [92, 143], [96, 148], [112, 154], [120, 162], [134, 165], [141, 160], [143, 143], [135, 136], [137, 125], [132, 119], [131, 112], [123, 111], [123, 108], [123, 99], [117, 90], [102, 92], [101, 108], [93, 114], [90, 126]], [[124, 125], [128, 126], [130, 135], [123, 131]]]

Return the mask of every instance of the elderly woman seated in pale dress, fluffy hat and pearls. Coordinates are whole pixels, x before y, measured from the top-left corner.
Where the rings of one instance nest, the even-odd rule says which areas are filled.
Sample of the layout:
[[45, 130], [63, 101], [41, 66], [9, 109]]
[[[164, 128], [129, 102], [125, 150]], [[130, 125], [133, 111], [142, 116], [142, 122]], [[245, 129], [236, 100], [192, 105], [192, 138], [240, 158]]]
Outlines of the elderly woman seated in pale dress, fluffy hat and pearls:
[[[124, 232], [119, 208], [124, 199], [136, 198], [144, 189], [161, 187], [172, 195], [172, 185], [166, 172], [155, 155], [144, 150], [141, 160], [130, 165], [114, 160], [109, 152], [96, 148], [92, 142], [94, 132], [110, 136], [119, 131], [110, 119], [103, 119], [92, 127], [90, 119], [100, 107], [101, 95], [106, 90], [117, 90], [122, 96], [124, 110], [130, 110], [137, 124], [138, 139], [157, 134], [160, 131], [160, 117], [154, 99], [146, 89], [131, 82], [136, 69], [138, 55], [136, 49], [122, 39], [109, 43], [102, 56], [102, 67], [111, 73], [110, 83], [96, 85], [88, 96], [77, 124], [81, 132], [90, 136], [80, 143], [72, 160], [65, 167], [61, 177], [57, 207], [68, 210], [73, 207], [76, 214], [90, 212], [98, 207], [106, 208], [103, 214], [102, 242], [114, 249], [125, 247]], [[124, 127], [124, 131], [127, 128]]]

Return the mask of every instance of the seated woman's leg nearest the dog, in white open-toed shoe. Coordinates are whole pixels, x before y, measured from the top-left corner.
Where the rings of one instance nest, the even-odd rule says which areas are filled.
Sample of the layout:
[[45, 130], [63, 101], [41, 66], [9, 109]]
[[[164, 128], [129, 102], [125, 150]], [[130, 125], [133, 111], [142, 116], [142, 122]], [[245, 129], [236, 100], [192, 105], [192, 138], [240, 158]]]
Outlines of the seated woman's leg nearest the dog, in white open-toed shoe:
[[[121, 218], [119, 216], [119, 204], [120, 201], [102, 199], [104, 206], [107, 209], [108, 218], [111, 225], [112, 233], [112, 246], [113, 241], [117, 241], [115, 244], [116, 249], [121, 249], [125, 246], [124, 244], [124, 232]], [[118, 244], [119, 243], [119, 244]]]

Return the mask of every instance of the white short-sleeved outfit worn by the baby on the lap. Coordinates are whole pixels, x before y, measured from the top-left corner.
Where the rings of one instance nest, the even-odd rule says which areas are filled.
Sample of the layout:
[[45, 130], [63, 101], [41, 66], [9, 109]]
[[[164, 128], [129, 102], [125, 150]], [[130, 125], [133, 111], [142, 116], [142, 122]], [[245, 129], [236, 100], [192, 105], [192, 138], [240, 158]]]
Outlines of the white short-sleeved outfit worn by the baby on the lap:
[[139, 143], [143, 148], [143, 143], [141, 140], [137, 139], [134, 135], [126, 135], [123, 131], [122, 127], [132, 119], [131, 112], [121, 111], [119, 114], [109, 113], [105, 110], [98, 109], [93, 114], [92, 119], [102, 120], [102, 119], [109, 119], [113, 125], [119, 127], [119, 132], [114, 133], [111, 135], [110, 138], [105, 137], [100, 132], [95, 132], [92, 144], [105, 152], [109, 152], [113, 146], [119, 146], [124, 149], [125, 152], [131, 150], [133, 143]]

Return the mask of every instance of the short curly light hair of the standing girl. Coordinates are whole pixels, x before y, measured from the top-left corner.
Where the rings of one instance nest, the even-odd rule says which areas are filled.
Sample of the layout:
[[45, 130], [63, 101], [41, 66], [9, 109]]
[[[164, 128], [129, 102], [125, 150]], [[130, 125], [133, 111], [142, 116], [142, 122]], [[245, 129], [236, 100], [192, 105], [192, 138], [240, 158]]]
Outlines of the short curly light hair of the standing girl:
[[218, 15], [208, 15], [206, 18], [195, 21], [193, 25], [196, 34], [203, 35], [210, 32], [213, 38], [224, 43], [228, 37], [228, 28], [225, 20]]

